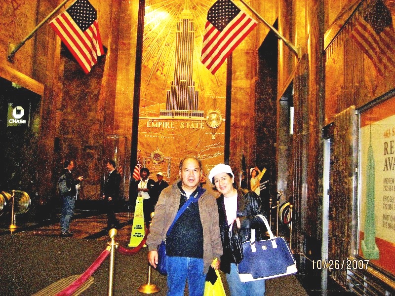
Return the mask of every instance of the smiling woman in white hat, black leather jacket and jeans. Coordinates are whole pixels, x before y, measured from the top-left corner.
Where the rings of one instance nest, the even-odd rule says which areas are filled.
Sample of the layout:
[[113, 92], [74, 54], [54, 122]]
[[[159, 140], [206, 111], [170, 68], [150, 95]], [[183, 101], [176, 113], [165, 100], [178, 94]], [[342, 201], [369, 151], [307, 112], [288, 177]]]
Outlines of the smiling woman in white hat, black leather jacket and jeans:
[[224, 255], [221, 256], [221, 270], [226, 273], [231, 296], [263, 296], [265, 280], [241, 282], [237, 273], [236, 253], [232, 251], [229, 237], [233, 224], [237, 224], [241, 243], [250, 239], [251, 229], [256, 229], [255, 239], [261, 240], [265, 224], [257, 215], [264, 215], [260, 197], [252, 191], [241, 191], [235, 185], [235, 175], [227, 164], [213, 167], [208, 179], [221, 195], [217, 198], [219, 223]]

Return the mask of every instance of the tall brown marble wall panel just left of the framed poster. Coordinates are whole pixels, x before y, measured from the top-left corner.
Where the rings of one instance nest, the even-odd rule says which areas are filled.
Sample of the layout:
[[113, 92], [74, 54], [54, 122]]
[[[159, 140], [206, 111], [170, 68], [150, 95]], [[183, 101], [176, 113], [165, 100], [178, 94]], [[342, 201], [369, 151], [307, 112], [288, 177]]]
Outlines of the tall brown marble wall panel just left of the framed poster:
[[[333, 139], [333, 191], [330, 195], [329, 206], [333, 209], [331, 215], [332, 233], [329, 237], [335, 244], [329, 249], [330, 258], [347, 258], [357, 249], [355, 217], [357, 209], [357, 115], [355, 107], [337, 114], [334, 121]], [[334, 270], [333, 277], [346, 283], [346, 274]]]

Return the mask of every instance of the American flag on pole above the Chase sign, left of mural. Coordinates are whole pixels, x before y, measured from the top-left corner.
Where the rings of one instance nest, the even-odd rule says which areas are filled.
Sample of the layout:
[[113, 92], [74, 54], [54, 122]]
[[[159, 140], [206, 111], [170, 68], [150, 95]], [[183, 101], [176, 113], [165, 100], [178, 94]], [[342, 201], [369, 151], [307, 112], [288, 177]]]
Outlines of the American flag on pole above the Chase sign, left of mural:
[[97, 24], [95, 8], [88, 0], [77, 0], [50, 22], [85, 74], [88, 74], [97, 57], [104, 54]]

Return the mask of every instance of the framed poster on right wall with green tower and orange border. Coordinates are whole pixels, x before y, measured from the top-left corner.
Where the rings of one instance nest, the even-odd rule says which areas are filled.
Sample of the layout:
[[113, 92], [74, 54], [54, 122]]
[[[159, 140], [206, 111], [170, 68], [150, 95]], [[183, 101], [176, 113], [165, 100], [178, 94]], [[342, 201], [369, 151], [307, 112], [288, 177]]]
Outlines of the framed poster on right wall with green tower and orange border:
[[359, 248], [395, 273], [395, 93], [359, 113]]

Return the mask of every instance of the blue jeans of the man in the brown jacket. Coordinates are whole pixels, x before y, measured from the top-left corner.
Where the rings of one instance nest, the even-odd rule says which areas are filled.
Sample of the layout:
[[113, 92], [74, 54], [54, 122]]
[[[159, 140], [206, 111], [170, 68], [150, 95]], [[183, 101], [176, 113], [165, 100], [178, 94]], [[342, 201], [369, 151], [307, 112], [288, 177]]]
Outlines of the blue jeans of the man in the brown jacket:
[[203, 296], [206, 275], [203, 259], [190, 257], [167, 257], [167, 296], [184, 296], [188, 279], [189, 296]]

